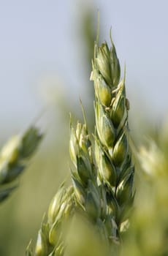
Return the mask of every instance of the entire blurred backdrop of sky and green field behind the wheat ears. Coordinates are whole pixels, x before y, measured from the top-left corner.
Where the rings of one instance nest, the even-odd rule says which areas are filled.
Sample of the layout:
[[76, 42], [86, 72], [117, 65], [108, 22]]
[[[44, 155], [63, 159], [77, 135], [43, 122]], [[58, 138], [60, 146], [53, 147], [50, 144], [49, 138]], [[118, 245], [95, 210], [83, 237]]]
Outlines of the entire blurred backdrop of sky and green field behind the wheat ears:
[[[58, 186], [69, 180], [69, 112], [93, 128], [89, 81], [97, 10], [101, 39], [112, 37], [139, 145], [167, 118], [167, 1], [1, 1], [1, 146], [34, 120], [45, 138], [20, 187], [0, 206], [0, 255], [24, 255]], [[45, 110], [45, 111], [43, 111]], [[39, 113], [42, 112], [42, 116]]]

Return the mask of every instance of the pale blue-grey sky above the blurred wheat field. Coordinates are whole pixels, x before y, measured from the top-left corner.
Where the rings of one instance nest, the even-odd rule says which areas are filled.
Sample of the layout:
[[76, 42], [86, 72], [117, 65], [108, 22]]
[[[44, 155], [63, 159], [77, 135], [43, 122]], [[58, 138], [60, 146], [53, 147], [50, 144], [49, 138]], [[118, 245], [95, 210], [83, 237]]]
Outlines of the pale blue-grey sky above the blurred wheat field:
[[[123, 67], [131, 108], [161, 119], [168, 110], [167, 1], [0, 1], [1, 132], [19, 130], [37, 116], [48, 83], [65, 84], [69, 101], [85, 99], [81, 8], [99, 9], [104, 39], [112, 34]], [[47, 80], [48, 79], [48, 80]], [[62, 83], [56, 85], [60, 91]], [[58, 86], [58, 87], [57, 87]], [[85, 100], [84, 100], [85, 102]], [[139, 107], [140, 108], [140, 107]]]

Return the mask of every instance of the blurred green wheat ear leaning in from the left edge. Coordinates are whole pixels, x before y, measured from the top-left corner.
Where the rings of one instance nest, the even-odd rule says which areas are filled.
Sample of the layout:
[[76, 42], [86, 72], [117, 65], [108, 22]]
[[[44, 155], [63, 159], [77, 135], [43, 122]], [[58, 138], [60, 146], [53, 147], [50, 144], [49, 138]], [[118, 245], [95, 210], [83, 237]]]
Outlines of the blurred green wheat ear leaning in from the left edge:
[[18, 187], [18, 176], [23, 173], [28, 159], [37, 149], [42, 134], [30, 127], [23, 135], [11, 138], [0, 152], [0, 203]]

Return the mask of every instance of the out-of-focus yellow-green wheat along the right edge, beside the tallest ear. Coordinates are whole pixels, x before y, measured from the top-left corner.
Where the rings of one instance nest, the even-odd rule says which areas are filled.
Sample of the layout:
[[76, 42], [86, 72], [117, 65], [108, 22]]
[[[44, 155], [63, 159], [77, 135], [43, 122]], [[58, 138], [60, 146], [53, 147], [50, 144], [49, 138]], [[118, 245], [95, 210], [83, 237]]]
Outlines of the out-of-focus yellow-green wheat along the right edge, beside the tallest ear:
[[131, 227], [121, 255], [168, 255], [168, 134], [159, 127], [137, 152], [140, 170]]

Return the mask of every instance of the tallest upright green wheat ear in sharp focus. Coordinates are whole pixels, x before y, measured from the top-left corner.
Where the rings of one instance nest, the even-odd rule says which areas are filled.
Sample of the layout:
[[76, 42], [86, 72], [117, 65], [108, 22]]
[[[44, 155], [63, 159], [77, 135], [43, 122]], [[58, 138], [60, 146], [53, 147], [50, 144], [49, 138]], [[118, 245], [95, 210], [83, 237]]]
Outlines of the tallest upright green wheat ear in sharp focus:
[[[112, 42], [112, 39], [111, 39]], [[125, 75], [120, 81], [121, 68], [112, 42], [100, 47], [95, 44], [91, 80], [95, 89], [95, 161], [99, 183], [107, 192], [107, 215], [117, 226], [115, 239], [120, 236], [133, 202], [134, 166], [129, 148], [128, 110]], [[113, 236], [113, 235], [112, 235]]]

